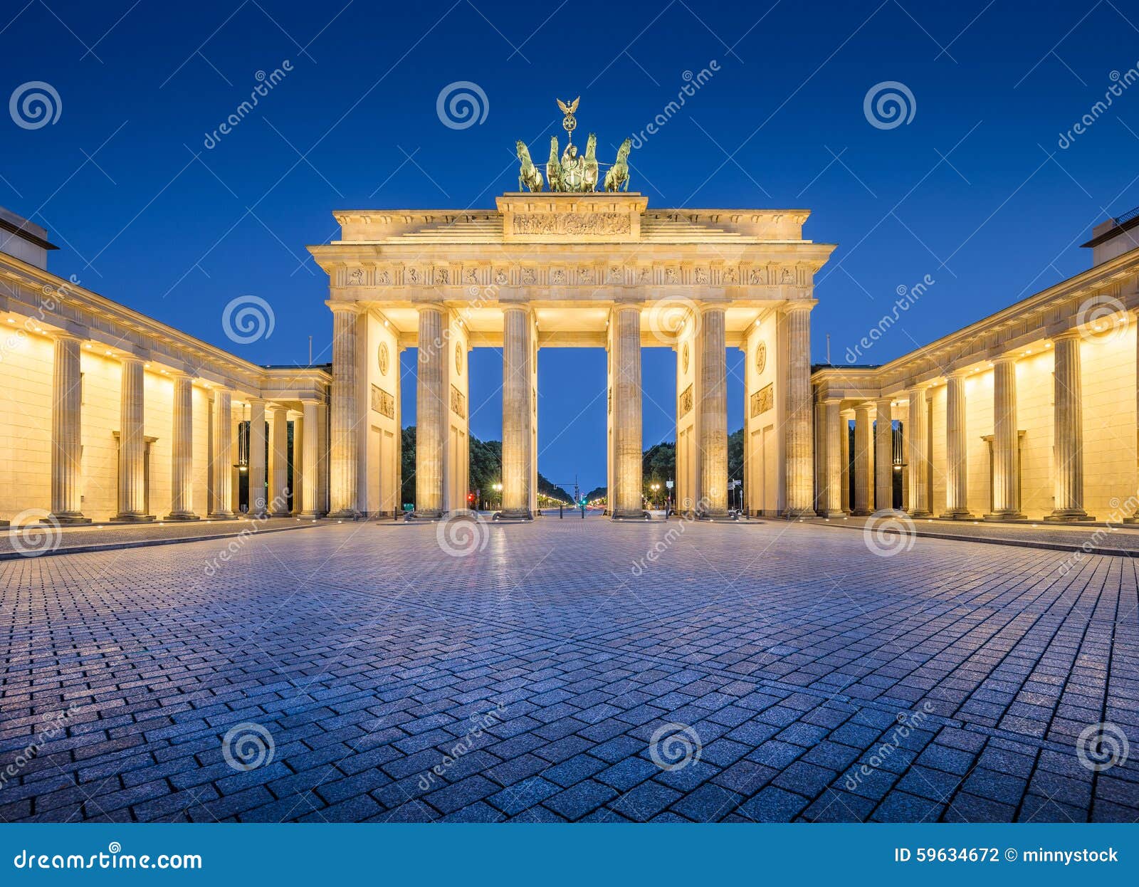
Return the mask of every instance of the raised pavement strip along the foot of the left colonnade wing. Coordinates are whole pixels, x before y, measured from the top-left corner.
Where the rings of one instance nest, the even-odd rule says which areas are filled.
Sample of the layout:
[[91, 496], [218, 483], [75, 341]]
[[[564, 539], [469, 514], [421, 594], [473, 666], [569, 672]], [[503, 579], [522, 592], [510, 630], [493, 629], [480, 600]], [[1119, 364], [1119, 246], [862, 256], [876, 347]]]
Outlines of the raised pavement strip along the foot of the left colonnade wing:
[[311, 520], [295, 517], [256, 520], [188, 520], [155, 521], [153, 524], [81, 524], [72, 526], [13, 526], [0, 528], [0, 558], [22, 557], [32, 552], [36, 557], [46, 551], [87, 550], [91, 547], [156, 544], [162, 541], [191, 540], [202, 536], [240, 535], [309, 526]]

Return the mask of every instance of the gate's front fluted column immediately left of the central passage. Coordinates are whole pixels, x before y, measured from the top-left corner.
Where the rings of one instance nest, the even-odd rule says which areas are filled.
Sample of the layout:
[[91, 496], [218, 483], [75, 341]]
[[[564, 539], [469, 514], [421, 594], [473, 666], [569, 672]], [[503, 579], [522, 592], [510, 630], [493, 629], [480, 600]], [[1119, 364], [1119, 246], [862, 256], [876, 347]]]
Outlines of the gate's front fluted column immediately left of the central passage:
[[530, 420], [531, 329], [528, 305], [507, 305], [502, 326], [502, 514], [531, 517], [530, 478], [534, 454]]

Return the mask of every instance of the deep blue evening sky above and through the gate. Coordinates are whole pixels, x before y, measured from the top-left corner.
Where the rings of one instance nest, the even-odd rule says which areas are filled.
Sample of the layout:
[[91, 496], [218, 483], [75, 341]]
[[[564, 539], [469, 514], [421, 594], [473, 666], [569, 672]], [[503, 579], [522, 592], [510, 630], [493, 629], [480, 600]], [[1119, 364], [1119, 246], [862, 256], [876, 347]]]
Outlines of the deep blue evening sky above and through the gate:
[[[1139, 84], [1118, 85], [1139, 63], [1137, 24], [1106, 0], [16, 0], [0, 13], [0, 92], [43, 81], [60, 109], [39, 129], [0, 116], [0, 204], [49, 229], [64, 277], [249, 360], [305, 362], [310, 335], [328, 360], [327, 280], [304, 246], [335, 236], [333, 210], [491, 206], [516, 187], [514, 141], [560, 133], [556, 96], [582, 96], [604, 156], [714, 60], [633, 151], [632, 187], [657, 207], [812, 210], [805, 236], [838, 244], [817, 278], [818, 362], [827, 334], [841, 362], [899, 287], [928, 276], [862, 356], [880, 362], [1085, 268], [1091, 225], [1139, 204]], [[206, 147], [257, 72], [286, 60]], [[441, 122], [454, 81], [485, 93], [481, 123]], [[883, 129], [863, 104], [888, 81], [913, 114]], [[1121, 95], [1062, 147], [1113, 83]], [[245, 294], [272, 305], [276, 327], [237, 345], [221, 312]], [[548, 350], [539, 372], [541, 470], [603, 482], [604, 353]], [[647, 446], [672, 437], [671, 353], [647, 350], [644, 372]], [[477, 436], [500, 435], [500, 377], [498, 353], [472, 355]], [[410, 375], [404, 395], [410, 422]]]

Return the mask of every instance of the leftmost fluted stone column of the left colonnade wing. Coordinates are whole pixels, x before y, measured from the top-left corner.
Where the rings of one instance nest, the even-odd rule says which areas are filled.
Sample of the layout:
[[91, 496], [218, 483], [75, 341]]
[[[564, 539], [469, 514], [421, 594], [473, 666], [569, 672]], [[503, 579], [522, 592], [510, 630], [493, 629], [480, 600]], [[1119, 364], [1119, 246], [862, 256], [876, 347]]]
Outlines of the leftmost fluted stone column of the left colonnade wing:
[[60, 524], [90, 524], [90, 518], [83, 517], [80, 493], [80, 339], [68, 332], [57, 332], [55, 342], [55, 369], [51, 376], [51, 516]]

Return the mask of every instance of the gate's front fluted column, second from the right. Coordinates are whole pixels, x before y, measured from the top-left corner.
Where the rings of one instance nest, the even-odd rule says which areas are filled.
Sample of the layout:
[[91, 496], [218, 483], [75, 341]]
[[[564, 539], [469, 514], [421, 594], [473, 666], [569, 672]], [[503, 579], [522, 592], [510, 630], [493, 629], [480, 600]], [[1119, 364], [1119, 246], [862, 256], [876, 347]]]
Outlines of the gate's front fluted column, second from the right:
[[728, 515], [728, 355], [722, 305], [700, 306], [699, 460], [702, 517]]

